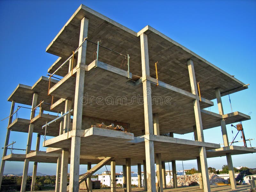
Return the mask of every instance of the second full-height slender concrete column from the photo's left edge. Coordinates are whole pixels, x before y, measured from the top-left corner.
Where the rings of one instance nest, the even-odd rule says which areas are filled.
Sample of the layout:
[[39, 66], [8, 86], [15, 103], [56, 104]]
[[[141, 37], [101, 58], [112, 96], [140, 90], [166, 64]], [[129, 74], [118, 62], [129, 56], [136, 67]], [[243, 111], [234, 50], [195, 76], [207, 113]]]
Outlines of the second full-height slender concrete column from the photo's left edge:
[[[32, 109], [31, 109], [31, 114], [30, 114], [30, 120], [32, 120], [35, 117], [35, 112], [33, 109], [36, 107], [36, 102], [37, 102], [37, 93], [34, 93], [33, 100], [32, 100], [32, 106], [31, 106]], [[34, 124], [30, 123], [29, 128], [28, 128], [28, 141], [27, 141], [26, 154], [28, 154], [31, 150], [33, 129], [34, 129]], [[27, 178], [28, 178], [28, 165], [29, 165], [29, 158], [26, 158], [25, 162], [24, 162], [20, 192], [26, 191], [26, 184], [27, 184]]]

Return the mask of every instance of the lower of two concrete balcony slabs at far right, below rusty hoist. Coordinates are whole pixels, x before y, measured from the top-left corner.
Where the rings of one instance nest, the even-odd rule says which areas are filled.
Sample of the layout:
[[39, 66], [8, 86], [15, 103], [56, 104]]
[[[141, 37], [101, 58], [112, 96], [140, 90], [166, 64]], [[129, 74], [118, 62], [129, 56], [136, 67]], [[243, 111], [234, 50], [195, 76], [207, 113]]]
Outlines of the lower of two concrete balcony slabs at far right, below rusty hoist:
[[230, 153], [231, 155], [256, 153], [256, 149], [250, 148], [250, 147], [241, 147], [241, 146], [231, 145], [228, 147], [222, 147], [222, 148], [211, 149], [206, 151], [207, 157], [226, 156], [227, 153]]

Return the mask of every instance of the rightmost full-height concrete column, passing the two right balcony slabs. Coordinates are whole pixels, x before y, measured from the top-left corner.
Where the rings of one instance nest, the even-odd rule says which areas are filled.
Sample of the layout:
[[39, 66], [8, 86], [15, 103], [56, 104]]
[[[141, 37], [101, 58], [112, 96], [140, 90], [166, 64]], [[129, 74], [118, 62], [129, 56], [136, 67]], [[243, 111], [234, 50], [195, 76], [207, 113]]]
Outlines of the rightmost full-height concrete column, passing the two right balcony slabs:
[[[220, 113], [220, 115], [224, 115], [219, 88], [215, 89], [215, 94], [216, 94], [216, 98], [217, 98], [219, 113]], [[221, 127], [224, 146], [227, 147], [227, 146], [229, 146], [229, 143], [228, 143], [228, 133], [227, 133], [227, 127], [226, 127], [225, 119], [220, 120], [220, 127]], [[235, 177], [235, 172], [234, 172], [234, 167], [233, 167], [231, 154], [227, 153], [226, 158], [227, 158], [227, 163], [228, 163], [228, 173], [229, 173], [230, 185], [231, 185], [232, 189], [236, 189], [237, 188], [236, 187], [236, 177]]]

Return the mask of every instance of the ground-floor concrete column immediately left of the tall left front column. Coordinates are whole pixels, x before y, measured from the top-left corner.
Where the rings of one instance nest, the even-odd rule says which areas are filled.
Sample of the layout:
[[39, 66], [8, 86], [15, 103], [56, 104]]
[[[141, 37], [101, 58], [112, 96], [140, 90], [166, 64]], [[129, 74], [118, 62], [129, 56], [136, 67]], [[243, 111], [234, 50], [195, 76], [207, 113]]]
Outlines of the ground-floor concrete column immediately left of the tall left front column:
[[68, 182], [68, 149], [62, 149], [60, 167], [60, 192], [67, 192]]

